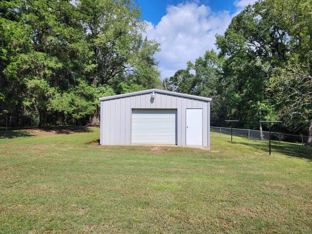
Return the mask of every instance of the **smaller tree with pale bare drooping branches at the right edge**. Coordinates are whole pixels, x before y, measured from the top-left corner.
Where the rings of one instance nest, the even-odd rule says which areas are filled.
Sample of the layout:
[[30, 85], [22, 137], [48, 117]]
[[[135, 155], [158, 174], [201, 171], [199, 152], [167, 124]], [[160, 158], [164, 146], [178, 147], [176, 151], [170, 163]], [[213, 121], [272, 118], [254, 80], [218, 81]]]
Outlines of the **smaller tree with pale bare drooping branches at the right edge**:
[[312, 146], [312, 76], [298, 65], [276, 69], [270, 92], [274, 93], [275, 108], [285, 126], [292, 131], [306, 126], [306, 143]]

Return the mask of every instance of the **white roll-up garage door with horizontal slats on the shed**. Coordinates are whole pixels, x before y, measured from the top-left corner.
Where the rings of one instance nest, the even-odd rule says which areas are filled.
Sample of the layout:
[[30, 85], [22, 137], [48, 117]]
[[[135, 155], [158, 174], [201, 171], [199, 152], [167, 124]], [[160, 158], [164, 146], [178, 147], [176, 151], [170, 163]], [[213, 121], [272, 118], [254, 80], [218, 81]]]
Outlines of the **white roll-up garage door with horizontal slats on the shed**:
[[133, 110], [132, 144], [176, 144], [176, 110]]

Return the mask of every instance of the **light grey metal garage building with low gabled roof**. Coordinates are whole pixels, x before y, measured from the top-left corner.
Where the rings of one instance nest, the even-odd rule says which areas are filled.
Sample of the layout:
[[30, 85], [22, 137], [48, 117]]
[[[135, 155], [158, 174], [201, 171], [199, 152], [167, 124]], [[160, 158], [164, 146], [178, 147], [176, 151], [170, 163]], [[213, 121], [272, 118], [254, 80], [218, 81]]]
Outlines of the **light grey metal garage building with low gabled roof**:
[[100, 144], [210, 146], [211, 98], [150, 89], [99, 101]]

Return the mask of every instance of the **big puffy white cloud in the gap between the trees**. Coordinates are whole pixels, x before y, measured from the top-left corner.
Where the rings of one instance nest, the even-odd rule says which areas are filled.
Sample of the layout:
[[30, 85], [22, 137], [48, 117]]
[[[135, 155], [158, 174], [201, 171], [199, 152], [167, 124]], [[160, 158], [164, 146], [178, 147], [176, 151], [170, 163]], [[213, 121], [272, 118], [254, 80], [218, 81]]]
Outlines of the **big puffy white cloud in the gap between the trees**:
[[161, 77], [171, 77], [186, 63], [203, 56], [206, 50], [216, 49], [215, 34], [223, 34], [232, 17], [243, 9], [244, 4], [253, 0], [234, 2], [236, 13], [229, 11], [214, 12], [209, 6], [199, 5], [198, 1], [167, 6], [167, 13], [157, 25], [147, 22], [146, 36], [161, 44], [159, 60]]

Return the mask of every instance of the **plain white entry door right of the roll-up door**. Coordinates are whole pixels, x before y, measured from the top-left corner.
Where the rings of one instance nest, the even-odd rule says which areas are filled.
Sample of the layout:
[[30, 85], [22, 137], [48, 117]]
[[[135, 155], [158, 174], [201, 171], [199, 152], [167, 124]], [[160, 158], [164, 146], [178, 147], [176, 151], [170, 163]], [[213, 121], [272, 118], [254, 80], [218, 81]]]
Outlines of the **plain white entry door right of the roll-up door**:
[[186, 145], [203, 145], [202, 109], [186, 109]]

